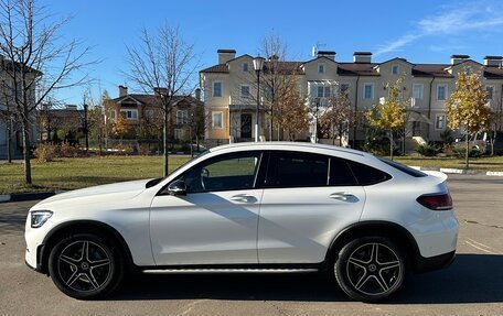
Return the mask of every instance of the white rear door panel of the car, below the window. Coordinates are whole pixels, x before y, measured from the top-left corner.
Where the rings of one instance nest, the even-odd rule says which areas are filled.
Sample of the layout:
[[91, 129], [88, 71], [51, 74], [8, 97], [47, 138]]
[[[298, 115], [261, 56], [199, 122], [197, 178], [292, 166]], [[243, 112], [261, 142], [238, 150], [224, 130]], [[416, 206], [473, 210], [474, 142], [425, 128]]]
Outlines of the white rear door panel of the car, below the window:
[[335, 235], [358, 220], [364, 204], [360, 186], [266, 189], [258, 224], [259, 262], [322, 262]]

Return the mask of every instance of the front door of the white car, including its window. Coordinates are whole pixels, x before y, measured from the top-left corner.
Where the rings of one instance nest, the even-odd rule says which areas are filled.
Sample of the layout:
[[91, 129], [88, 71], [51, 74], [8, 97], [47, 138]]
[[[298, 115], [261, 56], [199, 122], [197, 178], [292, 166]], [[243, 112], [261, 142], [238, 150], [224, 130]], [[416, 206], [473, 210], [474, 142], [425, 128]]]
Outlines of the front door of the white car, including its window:
[[223, 154], [179, 177], [186, 195], [158, 194], [150, 215], [157, 265], [257, 263], [261, 152]]

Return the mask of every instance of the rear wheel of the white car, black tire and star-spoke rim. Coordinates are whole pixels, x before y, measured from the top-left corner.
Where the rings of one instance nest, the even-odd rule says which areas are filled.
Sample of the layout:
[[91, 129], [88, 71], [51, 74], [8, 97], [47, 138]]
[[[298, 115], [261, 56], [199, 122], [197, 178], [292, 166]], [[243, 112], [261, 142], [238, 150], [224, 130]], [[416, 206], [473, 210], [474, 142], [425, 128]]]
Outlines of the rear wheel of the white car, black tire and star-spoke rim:
[[335, 280], [342, 291], [353, 299], [368, 303], [395, 294], [405, 273], [403, 252], [383, 237], [363, 237], [346, 243], [334, 262]]

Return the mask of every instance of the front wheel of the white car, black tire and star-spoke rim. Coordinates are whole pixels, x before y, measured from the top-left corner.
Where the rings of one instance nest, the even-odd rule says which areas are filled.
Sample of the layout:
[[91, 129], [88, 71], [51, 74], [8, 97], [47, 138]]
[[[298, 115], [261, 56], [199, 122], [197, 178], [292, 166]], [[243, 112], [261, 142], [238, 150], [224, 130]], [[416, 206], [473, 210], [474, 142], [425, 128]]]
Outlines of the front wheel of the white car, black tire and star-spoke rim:
[[63, 293], [77, 299], [108, 295], [124, 277], [120, 253], [93, 232], [66, 236], [51, 250], [49, 273]]

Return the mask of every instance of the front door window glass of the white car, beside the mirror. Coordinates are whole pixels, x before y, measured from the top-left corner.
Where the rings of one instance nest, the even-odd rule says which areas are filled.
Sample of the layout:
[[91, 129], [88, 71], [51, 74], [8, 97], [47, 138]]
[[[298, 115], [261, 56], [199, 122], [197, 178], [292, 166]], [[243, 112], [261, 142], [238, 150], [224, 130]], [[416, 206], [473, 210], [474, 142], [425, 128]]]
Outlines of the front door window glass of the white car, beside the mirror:
[[260, 156], [260, 152], [224, 154], [191, 167], [181, 178], [188, 193], [250, 189]]

